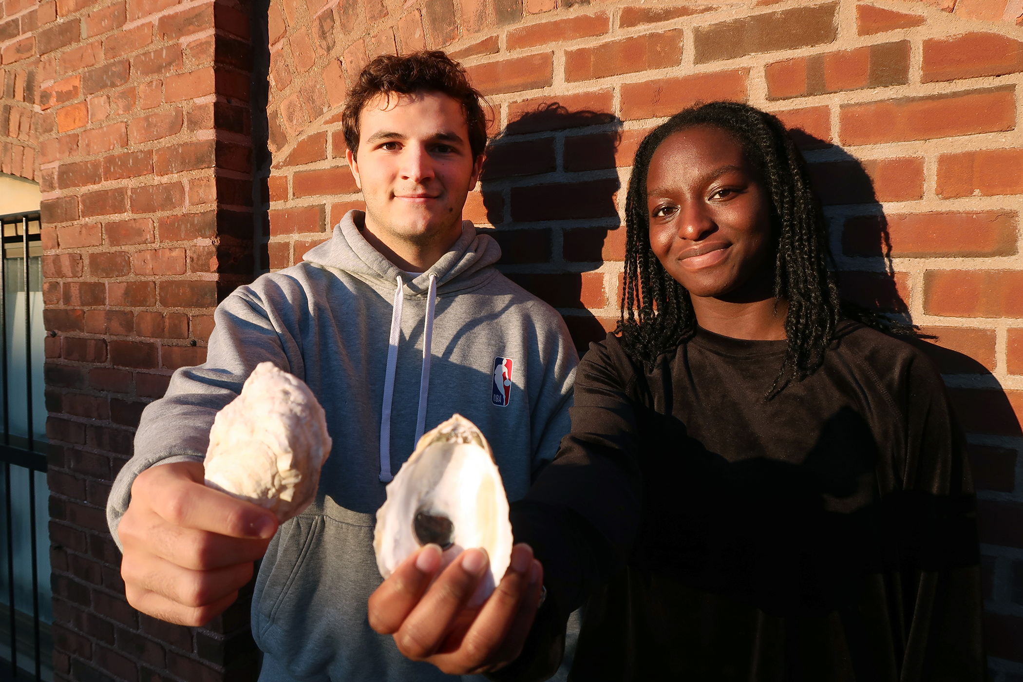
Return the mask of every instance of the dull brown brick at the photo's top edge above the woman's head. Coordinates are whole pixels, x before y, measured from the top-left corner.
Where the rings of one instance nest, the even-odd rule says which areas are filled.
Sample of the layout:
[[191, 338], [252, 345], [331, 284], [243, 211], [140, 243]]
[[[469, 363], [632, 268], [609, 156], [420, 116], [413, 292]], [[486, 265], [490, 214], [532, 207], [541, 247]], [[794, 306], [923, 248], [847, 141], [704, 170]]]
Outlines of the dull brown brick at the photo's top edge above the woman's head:
[[831, 43], [838, 36], [837, 10], [838, 3], [828, 3], [697, 27], [694, 59], [700, 64]]

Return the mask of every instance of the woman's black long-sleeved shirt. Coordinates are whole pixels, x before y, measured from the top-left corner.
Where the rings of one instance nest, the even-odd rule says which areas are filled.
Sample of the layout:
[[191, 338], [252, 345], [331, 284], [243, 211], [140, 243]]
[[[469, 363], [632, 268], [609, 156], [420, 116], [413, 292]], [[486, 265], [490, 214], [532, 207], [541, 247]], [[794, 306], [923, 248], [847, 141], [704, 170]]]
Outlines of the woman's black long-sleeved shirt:
[[571, 680], [984, 678], [974, 498], [941, 378], [840, 326], [765, 400], [786, 342], [705, 330], [644, 369], [614, 335], [572, 433], [513, 505], [548, 603], [501, 679], [542, 679], [586, 601]]

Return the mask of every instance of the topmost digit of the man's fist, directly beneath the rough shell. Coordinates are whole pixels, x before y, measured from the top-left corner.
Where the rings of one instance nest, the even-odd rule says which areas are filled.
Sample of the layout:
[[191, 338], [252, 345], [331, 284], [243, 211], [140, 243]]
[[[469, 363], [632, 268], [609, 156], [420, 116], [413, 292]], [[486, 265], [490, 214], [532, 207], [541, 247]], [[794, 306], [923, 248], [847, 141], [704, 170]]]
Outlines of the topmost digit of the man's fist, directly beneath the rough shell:
[[[273, 537], [277, 517], [272, 512], [207, 488], [201, 470], [202, 464], [197, 462], [149, 467], [132, 485], [132, 499], [145, 500], [147, 506], [172, 526], [232, 538]], [[197, 481], [196, 475], [199, 475]]]

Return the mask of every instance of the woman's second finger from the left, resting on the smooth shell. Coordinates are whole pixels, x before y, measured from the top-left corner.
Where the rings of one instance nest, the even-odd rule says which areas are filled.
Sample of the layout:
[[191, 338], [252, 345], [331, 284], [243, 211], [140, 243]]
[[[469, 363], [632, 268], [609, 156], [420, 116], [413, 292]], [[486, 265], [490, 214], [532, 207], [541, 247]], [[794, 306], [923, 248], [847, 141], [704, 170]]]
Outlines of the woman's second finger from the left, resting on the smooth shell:
[[441, 573], [394, 634], [398, 650], [412, 661], [430, 656], [444, 643], [452, 623], [473, 596], [490, 558], [482, 549], [466, 549]]

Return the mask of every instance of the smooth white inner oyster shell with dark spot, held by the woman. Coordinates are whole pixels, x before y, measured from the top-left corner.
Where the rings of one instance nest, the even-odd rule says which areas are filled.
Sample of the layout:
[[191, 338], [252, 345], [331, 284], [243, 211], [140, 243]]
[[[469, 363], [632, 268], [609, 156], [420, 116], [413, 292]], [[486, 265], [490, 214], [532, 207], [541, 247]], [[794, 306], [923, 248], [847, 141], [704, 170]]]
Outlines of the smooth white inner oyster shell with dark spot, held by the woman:
[[487, 550], [490, 573], [473, 601], [489, 597], [511, 560], [508, 501], [490, 445], [460, 414], [425, 434], [387, 487], [387, 501], [376, 511], [373, 531], [376, 565], [384, 578], [420, 547], [414, 529], [419, 511], [446, 516], [453, 524], [452, 544], [444, 550], [442, 566], [464, 549]]

